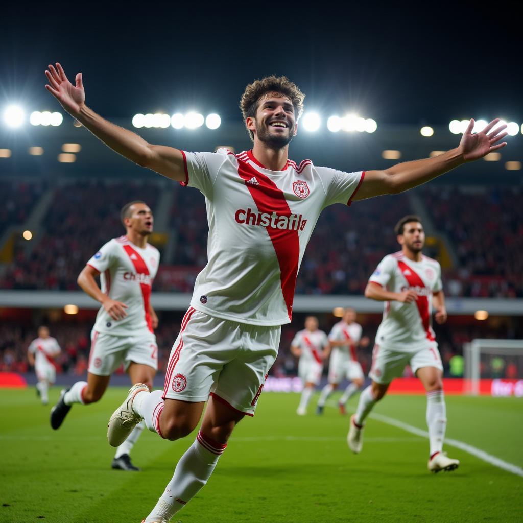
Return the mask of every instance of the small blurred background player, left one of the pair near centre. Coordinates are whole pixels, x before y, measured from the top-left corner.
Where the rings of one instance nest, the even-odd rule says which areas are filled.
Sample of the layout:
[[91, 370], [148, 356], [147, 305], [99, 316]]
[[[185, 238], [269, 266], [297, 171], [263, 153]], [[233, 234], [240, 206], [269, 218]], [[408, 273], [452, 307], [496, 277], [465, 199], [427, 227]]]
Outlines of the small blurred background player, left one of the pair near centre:
[[320, 383], [329, 343], [327, 335], [318, 328], [316, 316], [305, 318], [305, 328], [294, 336], [291, 342], [291, 353], [300, 358], [298, 361], [298, 376], [303, 383], [300, 404], [296, 413], [304, 416], [316, 385]]

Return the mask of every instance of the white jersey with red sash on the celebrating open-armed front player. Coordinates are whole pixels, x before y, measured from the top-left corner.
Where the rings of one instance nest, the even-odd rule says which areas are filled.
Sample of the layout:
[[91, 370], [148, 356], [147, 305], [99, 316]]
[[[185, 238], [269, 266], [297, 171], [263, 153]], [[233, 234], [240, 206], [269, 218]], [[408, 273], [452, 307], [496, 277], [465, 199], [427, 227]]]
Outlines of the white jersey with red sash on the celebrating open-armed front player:
[[365, 172], [345, 173], [288, 161], [266, 169], [251, 151], [188, 153], [186, 180], [206, 197], [208, 263], [191, 306], [225, 320], [282, 325], [292, 316], [294, 287], [320, 212], [349, 205]]

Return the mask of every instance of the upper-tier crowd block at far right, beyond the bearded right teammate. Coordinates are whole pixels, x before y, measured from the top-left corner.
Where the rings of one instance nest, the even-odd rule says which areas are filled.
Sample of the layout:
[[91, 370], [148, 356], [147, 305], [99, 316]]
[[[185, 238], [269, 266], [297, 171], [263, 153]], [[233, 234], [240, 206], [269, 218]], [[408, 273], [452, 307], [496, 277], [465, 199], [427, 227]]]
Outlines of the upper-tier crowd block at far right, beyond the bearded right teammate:
[[[420, 189], [436, 229], [458, 257], [447, 273], [451, 294], [523, 297], [523, 188]], [[455, 290], [454, 290], [455, 289]]]

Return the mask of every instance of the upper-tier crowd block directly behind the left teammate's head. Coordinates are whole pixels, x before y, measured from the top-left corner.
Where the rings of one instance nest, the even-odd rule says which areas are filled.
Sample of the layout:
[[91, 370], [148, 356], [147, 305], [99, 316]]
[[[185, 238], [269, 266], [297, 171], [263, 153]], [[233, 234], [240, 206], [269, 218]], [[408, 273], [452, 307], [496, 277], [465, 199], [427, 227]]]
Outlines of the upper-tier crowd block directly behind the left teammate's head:
[[36, 246], [19, 244], [15, 261], [0, 276], [3, 289], [77, 290], [86, 261], [113, 237], [124, 234], [120, 209], [129, 201], [157, 203], [157, 185], [76, 181], [55, 188]]

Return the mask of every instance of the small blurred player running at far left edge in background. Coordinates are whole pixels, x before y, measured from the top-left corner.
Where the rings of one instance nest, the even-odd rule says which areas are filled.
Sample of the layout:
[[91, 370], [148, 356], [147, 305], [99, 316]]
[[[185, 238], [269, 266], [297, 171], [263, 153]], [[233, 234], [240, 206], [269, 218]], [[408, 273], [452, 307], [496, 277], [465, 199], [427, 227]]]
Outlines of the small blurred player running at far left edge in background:
[[36, 390], [42, 405], [49, 403], [49, 386], [56, 380], [54, 359], [61, 353], [60, 345], [49, 336], [49, 328], [38, 327], [38, 338], [33, 339], [27, 350], [29, 364], [35, 367], [37, 384]]

